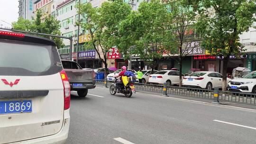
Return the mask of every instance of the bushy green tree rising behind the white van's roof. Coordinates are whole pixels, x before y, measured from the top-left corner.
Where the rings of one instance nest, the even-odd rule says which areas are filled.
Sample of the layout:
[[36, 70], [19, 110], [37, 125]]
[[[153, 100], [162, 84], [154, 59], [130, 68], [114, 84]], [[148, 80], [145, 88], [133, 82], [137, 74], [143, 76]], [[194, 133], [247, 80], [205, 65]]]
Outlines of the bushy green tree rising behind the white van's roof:
[[[32, 18], [32, 20], [18, 18], [17, 22], [13, 22], [13, 29], [16, 30], [24, 30], [31, 32], [38, 32], [50, 35], [60, 35], [60, 21], [56, 20], [52, 16], [46, 17], [44, 21], [41, 20], [43, 16], [40, 10], [37, 11], [36, 18]], [[38, 35], [41, 36], [41, 35]], [[51, 36], [43, 36], [55, 41], [57, 48], [64, 47], [63, 40], [58, 37]]]

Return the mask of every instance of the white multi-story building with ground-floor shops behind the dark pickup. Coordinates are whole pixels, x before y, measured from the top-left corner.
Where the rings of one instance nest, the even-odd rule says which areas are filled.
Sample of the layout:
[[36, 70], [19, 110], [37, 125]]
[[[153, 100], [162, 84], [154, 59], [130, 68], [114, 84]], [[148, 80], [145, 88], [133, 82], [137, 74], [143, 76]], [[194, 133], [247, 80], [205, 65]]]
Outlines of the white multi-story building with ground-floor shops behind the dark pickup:
[[[101, 4], [107, 0], [80, 0], [81, 4], [91, 2], [92, 7], [100, 7]], [[78, 27], [76, 21], [78, 20], [77, 9], [75, 5], [79, 0], [65, 0], [57, 4], [56, 9], [52, 9], [52, 16], [60, 21], [62, 36], [73, 36], [73, 60], [76, 60], [76, 52], [78, 50], [78, 62], [85, 68], [102, 67], [102, 62], [93, 47], [86, 47], [86, 43], [90, 40], [88, 32], [80, 27], [79, 39], [77, 40]], [[82, 17], [80, 17], [82, 21]], [[63, 39], [64, 48], [59, 49], [62, 59], [69, 59], [70, 41]], [[77, 48], [78, 42], [78, 48]]]

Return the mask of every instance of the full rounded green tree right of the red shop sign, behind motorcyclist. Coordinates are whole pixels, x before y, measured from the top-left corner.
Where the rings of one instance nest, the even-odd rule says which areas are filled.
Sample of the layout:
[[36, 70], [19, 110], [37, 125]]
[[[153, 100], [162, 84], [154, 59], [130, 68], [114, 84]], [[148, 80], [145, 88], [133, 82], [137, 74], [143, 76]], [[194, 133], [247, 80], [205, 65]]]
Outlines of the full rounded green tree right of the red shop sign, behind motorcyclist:
[[153, 72], [169, 36], [165, 27], [167, 19], [167, 9], [160, 0], [140, 3], [138, 12], [132, 12], [119, 26], [122, 52], [137, 54]]

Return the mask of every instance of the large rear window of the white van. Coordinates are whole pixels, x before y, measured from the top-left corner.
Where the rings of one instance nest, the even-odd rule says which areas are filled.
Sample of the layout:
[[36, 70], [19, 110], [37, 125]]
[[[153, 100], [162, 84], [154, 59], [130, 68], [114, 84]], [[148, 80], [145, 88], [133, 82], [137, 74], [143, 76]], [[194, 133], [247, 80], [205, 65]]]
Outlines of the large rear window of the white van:
[[0, 39], [0, 75], [42, 76], [62, 71], [56, 47]]

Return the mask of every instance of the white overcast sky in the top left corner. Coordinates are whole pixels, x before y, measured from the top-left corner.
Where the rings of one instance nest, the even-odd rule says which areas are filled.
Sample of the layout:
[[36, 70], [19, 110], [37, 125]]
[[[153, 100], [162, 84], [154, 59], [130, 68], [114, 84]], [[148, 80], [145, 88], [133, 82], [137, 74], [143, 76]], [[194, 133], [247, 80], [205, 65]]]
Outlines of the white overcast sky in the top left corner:
[[0, 24], [10, 27], [1, 20], [8, 23], [18, 20], [18, 0], [0, 0]]

